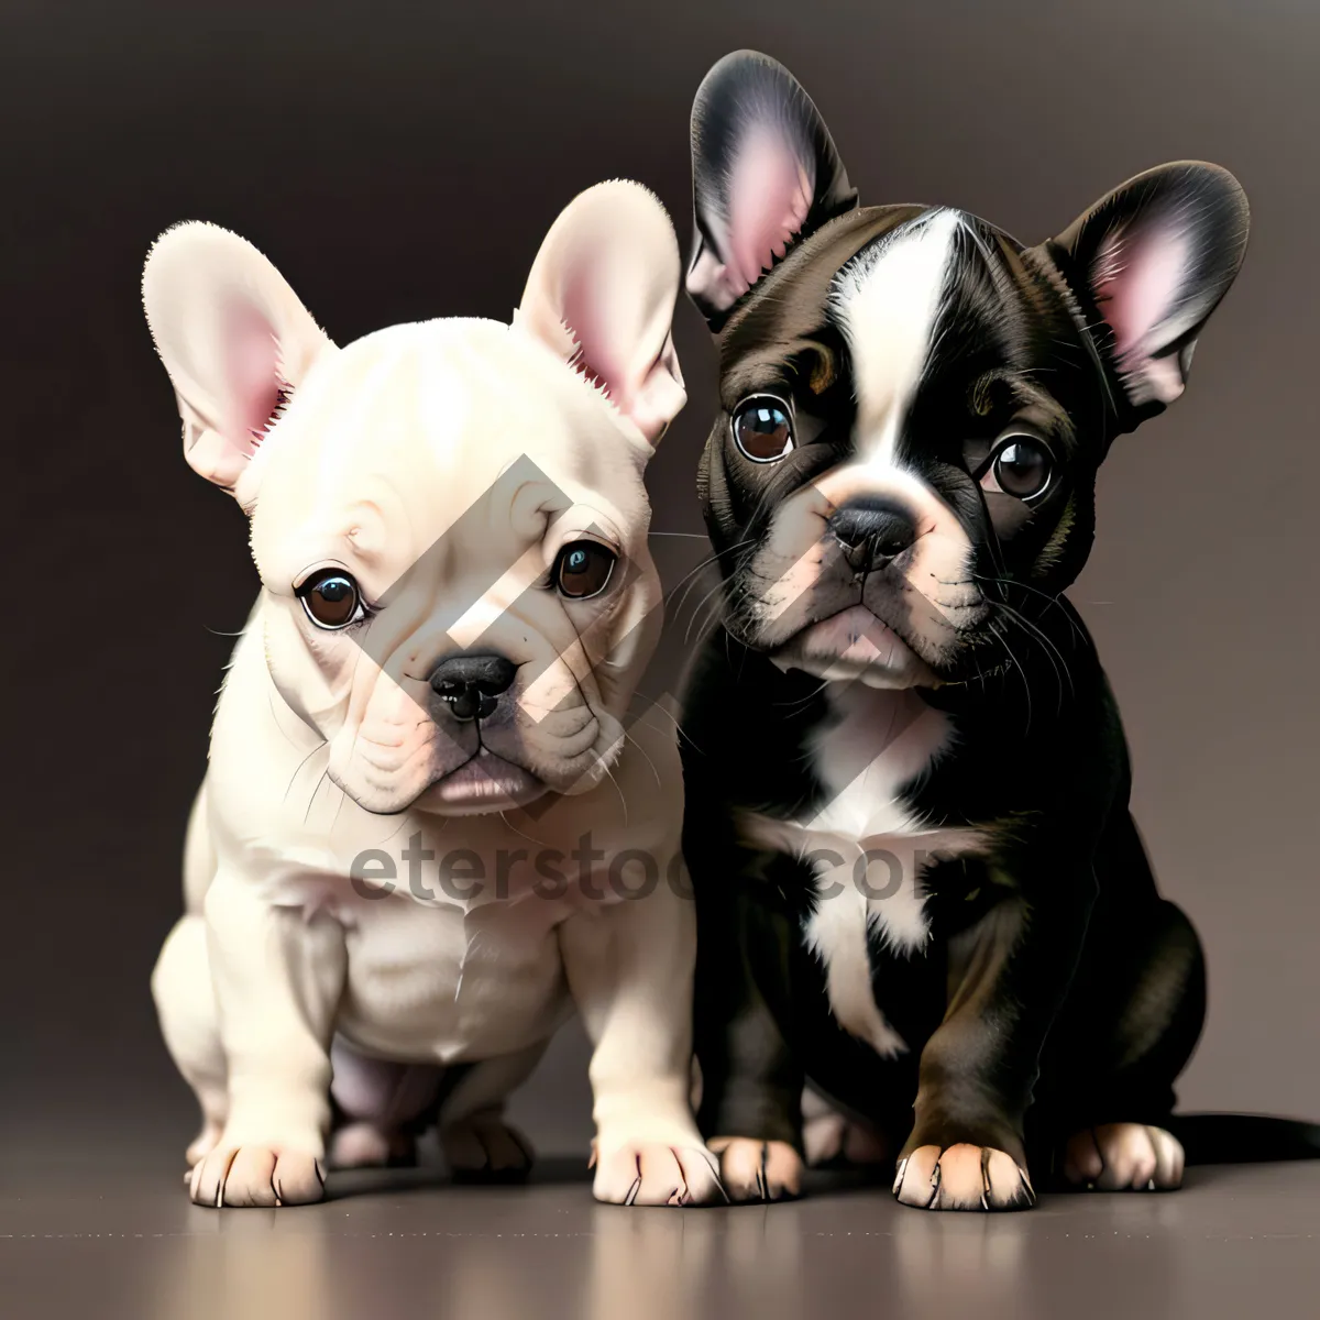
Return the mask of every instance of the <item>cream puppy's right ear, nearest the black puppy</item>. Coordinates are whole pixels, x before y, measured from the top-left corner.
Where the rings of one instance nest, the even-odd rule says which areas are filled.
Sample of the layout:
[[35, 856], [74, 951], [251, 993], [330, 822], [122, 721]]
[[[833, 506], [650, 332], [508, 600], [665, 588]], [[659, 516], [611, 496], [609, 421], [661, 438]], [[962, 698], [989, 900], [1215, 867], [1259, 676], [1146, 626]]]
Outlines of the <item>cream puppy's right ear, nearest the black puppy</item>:
[[653, 445], [688, 397], [672, 330], [680, 275], [656, 197], [640, 183], [598, 183], [550, 226], [513, 325], [605, 391]]

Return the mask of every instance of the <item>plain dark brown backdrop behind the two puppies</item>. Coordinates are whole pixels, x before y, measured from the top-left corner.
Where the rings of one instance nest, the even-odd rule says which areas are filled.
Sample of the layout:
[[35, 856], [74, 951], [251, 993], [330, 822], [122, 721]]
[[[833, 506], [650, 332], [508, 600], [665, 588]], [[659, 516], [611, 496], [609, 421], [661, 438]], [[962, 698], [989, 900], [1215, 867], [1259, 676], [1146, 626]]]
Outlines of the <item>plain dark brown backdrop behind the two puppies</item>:
[[[954, 203], [1034, 242], [1163, 160], [1246, 186], [1242, 277], [1188, 397], [1113, 453], [1073, 594], [1156, 869], [1209, 949], [1184, 1098], [1320, 1114], [1317, 36], [1300, 0], [5, 0], [5, 1162], [110, 1159], [129, 1135], [174, 1156], [193, 1123], [147, 982], [230, 644], [209, 630], [242, 624], [255, 576], [238, 511], [180, 454], [137, 302], [152, 238], [239, 231], [341, 342], [506, 317], [601, 178], [649, 183], [686, 246], [688, 107], [743, 45], [805, 82], [867, 201]], [[652, 490], [655, 525], [690, 532], [714, 381], [698, 318], [677, 319], [693, 401]], [[576, 1036], [516, 1109], [543, 1146], [582, 1148]]]

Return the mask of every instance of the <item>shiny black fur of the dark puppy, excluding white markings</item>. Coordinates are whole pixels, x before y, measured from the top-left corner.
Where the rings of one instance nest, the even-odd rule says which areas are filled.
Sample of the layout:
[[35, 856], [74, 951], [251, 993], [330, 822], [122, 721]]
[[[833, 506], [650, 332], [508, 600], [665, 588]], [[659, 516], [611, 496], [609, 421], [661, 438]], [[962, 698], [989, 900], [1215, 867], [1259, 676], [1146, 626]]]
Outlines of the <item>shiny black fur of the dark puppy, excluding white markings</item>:
[[[722, 224], [748, 123], [777, 125], [813, 198], [783, 255], [767, 252], [767, 271], [730, 305], [709, 271], [730, 247]], [[1030, 1156], [1039, 1171], [1067, 1137], [1097, 1123], [1176, 1127], [1173, 1081], [1205, 1010], [1201, 948], [1156, 891], [1129, 814], [1118, 711], [1063, 591], [1089, 552], [1110, 442], [1166, 401], [1105, 321], [1105, 244], [1170, 216], [1184, 227], [1177, 327], [1144, 366], [1152, 379], [1171, 363], [1185, 376], [1196, 334], [1242, 259], [1241, 190], [1214, 166], [1164, 166], [1035, 248], [964, 218], [937, 347], [898, 453], [966, 529], [983, 610], [949, 647], [924, 653], [940, 685], [921, 700], [948, 713], [956, 739], [902, 796], [923, 822], [978, 825], [994, 845], [928, 866], [924, 949], [895, 954], [871, 940], [876, 1005], [909, 1045], [882, 1059], [840, 1027], [804, 942], [818, 902], [813, 873], [750, 845], [738, 817], [791, 820], [825, 796], [810, 739], [833, 718], [828, 685], [784, 672], [758, 645], [752, 556], [776, 507], [854, 453], [855, 346], [830, 310], [840, 272], [928, 209], [858, 207], [814, 106], [785, 70], [751, 53], [722, 61], [704, 83], [693, 168], [689, 292], [721, 355], [700, 491], [725, 583], [682, 715], [704, 1133], [801, 1148], [808, 1080], [887, 1131], [900, 1156], [969, 1142], [1023, 1167]], [[780, 463], [747, 462], [731, 438], [739, 401], [762, 391], [791, 399], [805, 420], [808, 442]], [[1028, 396], [1060, 479], [1024, 512], [987, 496], [974, 474], [986, 438]], [[874, 609], [909, 640], [920, 606], [900, 582], [882, 586]], [[1296, 1154], [1315, 1131], [1292, 1135], [1284, 1146]]]

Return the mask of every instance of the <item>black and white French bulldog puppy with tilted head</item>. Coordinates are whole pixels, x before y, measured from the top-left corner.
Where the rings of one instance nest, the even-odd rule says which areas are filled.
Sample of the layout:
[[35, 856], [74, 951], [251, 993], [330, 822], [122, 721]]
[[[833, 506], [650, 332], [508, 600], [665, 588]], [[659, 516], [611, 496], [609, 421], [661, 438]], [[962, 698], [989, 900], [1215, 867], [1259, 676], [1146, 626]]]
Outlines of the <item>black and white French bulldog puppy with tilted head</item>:
[[1237, 275], [1242, 189], [1164, 165], [1036, 247], [862, 207], [748, 51], [704, 82], [692, 150], [723, 607], [685, 702], [685, 851], [725, 1185], [799, 1189], [809, 1080], [888, 1137], [908, 1205], [1026, 1206], [1028, 1167], [1176, 1187], [1201, 948], [1061, 593], [1109, 445], [1181, 395]]

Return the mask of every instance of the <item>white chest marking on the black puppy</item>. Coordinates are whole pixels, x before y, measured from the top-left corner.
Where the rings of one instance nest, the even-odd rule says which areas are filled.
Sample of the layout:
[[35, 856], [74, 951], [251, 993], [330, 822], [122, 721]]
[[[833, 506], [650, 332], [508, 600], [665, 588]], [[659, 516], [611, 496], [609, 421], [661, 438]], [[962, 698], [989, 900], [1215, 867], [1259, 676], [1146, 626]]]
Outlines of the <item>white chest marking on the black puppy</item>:
[[[840, 686], [843, 686], [842, 684]], [[799, 821], [746, 820], [750, 838], [807, 859], [816, 873], [816, 912], [807, 941], [825, 964], [840, 1024], [891, 1057], [907, 1049], [876, 1007], [869, 939], [911, 953], [929, 936], [921, 873], [931, 855], [983, 849], [974, 829], [923, 822], [900, 796], [949, 743], [948, 717], [912, 692], [851, 684], [832, 705], [841, 717], [810, 748], [829, 799]]]

